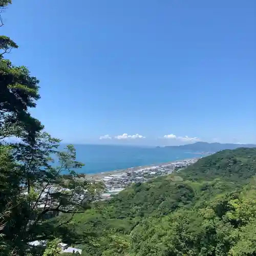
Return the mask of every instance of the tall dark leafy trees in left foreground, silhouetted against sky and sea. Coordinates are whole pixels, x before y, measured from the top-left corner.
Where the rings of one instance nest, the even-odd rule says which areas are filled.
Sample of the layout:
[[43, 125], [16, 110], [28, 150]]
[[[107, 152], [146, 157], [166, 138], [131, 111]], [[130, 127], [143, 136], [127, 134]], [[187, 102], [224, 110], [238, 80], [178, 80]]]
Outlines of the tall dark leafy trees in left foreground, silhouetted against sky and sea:
[[[0, 1], [0, 27], [11, 3]], [[42, 255], [44, 250], [30, 245], [35, 240], [49, 241], [45, 255], [57, 255], [57, 241], [77, 238], [66, 224], [90, 208], [103, 186], [78, 179], [75, 170], [82, 164], [75, 148], [60, 151], [60, 140], [31, 116], [29, 109], [40, 98], [39, 81], [6, 59], [17, 48], [11, 38], [0, 36], [0, 255]], [[56, 217], [60, 214], [68, 216], [65, 222]]]

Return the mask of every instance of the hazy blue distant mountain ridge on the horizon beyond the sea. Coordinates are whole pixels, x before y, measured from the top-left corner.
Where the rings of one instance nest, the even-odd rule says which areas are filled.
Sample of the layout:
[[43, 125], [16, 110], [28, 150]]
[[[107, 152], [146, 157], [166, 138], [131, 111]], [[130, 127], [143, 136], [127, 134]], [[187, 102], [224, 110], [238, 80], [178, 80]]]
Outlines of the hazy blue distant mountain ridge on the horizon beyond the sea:
[[255, 144], [232, 144], [232, 143], [208, 143], [196, 142], [193, 144], [186, 144], [180, 146], [165, 146], [166, 148], [179, 148], [181, 150], [198, 151], [198, 152], [218, 152], [221, 150], [234, 150], [238, 147], [256, 147]]

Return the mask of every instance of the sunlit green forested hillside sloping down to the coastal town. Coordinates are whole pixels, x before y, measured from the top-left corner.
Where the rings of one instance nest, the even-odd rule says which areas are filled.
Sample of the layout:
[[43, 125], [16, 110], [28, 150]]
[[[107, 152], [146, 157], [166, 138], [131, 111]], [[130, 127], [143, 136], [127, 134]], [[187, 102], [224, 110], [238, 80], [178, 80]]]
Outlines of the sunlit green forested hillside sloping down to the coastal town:
[[134, 184], [68, 227], [87, 233], [83, 255], [256, 255], [255, 174], [256, 148], [225, 150]]

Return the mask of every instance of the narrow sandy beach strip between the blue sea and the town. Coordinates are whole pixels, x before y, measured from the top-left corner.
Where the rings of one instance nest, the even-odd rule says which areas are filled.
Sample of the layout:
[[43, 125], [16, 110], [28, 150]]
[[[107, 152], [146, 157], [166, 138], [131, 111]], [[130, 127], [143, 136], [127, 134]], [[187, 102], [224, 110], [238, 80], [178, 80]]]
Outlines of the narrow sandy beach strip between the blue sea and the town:
[[102, 172], [102, 173], [95, 173], [95, 174], [85, 174], [85, 175], [90, 176], [89, 179], [98, 179], [98, 178], [102, 178], [104, 176], [109, 176], [109, 175], [113, 175], [113, 174], [122, 174], [122, 173], [125, 173], [125, 172], [135, 172], [135, 171], [140, 170], [140, 169], [151, 169], [151, 168], [156, 168], [156, 167], [163, 167], [163, 166], [166, 166], [166, 165], [179, 163], [179, 162], [182, 162], [182, 161], [191, 161], [191, 160], [198, 160], [198, 159], [200, 159], [200, 157], [185, 158], [185, 159], [179, 159], [179, 160], [169, 161], [169, 162], [164, 162], [164, 163], [136, 166], [136, 167], [130, 167], [130, 168], [125, 168], [125, 169], [120, 169], [120, 170], [111, 170], [109, 172]]

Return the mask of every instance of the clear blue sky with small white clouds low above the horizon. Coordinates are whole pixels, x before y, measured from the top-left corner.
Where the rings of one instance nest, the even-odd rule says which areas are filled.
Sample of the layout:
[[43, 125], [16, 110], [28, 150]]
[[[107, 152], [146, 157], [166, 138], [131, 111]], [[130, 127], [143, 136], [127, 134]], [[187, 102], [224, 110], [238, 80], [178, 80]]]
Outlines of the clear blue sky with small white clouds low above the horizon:
[[255, 0], [70, 3], [13, 0], [1, 28], [40, 80], [32, 112], [53, 136], [256, 143]]

